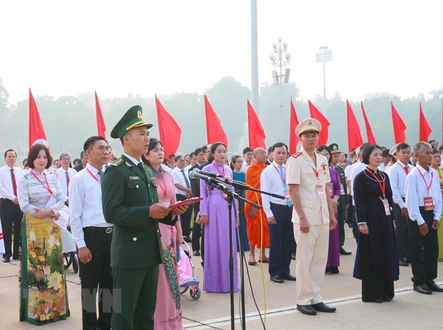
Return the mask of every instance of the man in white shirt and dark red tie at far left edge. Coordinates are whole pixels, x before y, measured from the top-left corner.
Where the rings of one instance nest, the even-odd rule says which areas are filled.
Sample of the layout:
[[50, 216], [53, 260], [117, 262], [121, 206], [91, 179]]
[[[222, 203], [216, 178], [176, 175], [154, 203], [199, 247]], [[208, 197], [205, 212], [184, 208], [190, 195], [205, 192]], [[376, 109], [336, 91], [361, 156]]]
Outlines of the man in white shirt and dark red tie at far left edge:
[[[18, 179], [24, 170], [15, 166], [17, 154], [13, 149], [5, 151], [6, 166], [0, 169], [0, 221], [2, 221], [5, 253], [3, 262], [10, 262], [11, 257], [18, 260], [20, 248], [20, 225], [23, 212], [20, 210], [17, 198]], [[14, 249], [12, 250], [12, 230], [14, 229]]]

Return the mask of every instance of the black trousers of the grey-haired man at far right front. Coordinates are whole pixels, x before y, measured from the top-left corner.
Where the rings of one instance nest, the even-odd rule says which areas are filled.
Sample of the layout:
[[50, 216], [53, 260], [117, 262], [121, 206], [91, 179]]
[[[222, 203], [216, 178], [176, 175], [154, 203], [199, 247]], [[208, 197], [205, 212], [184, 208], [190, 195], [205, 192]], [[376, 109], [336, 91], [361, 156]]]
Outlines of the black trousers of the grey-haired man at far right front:
[[412, 282], [414, 285], [431, 284], [437, 277], [438, 240], [437, 231], [432, 229], [434, 211], [425, 211], [420, 207], [420, 214], [428, 225], [428, 234], [420, 234], [416, 221], [408, 220], [411, 242]]

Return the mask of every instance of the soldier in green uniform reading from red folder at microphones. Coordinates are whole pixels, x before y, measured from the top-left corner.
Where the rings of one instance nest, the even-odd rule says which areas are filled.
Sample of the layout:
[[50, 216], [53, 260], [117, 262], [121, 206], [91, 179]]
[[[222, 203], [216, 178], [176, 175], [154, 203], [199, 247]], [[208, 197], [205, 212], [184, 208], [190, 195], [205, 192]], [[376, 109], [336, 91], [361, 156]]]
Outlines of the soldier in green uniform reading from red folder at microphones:
[[130, 108], [111, 132], [123, 145], [123, 155], [108, 166], [102, 179], [106, 222], [114, 224], [111, 243], [113, 274], [113, 330], [153, 329], [158, 264], [163, 248], [158, 222], [173, 225], [171, 211], [158, 204], [154, 174], [141, 156], [149, 145], [152, 124], [142, 119], [142, 108]]

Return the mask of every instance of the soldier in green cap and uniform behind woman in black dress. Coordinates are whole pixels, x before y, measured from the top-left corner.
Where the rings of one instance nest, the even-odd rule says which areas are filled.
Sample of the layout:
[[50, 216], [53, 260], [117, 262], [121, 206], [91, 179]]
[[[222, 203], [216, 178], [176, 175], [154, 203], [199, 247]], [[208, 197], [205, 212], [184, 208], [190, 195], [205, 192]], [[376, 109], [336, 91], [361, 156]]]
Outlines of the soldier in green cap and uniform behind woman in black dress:
[[343, 245], [345, 244], [345, 212], [348, 205], [347, 200], [347, 193], [348, 193], [348, 187], [346, 185], [346, 177], [345, 177], [345, 170], [343, 167], [339, 165], [339, 156], [340, 156], [340, 150], [339, 145], [337, 143], [330, 144], [328, 146], [332, 159], [331, 159], [331, 165], [339, 172], [340, 176], [340, 189], [341, 189], [341, 196], [339, 198], [339, 207], [338, 207], [338, 218], [339, 218], [339, 242], [340, 242], [340, 254], [344, 256], [349, 256], [352, 254], [352, 252], [347, 252]]

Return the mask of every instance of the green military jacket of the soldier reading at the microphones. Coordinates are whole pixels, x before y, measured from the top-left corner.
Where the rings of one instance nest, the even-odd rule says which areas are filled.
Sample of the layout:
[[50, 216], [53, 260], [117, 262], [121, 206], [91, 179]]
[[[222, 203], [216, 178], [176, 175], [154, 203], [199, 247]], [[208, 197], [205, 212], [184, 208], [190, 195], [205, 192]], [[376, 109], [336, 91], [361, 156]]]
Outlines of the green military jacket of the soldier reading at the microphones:
[[163, 252], [158, 222], [174, 225], [171, 213], [161, 220], [149, 217], [158, 202], [154, 173], [145, 173], [124, 155], [108, 166], [102, 178], [106, 222], [114, 224], [111, 267], [147, 268], [161, 263]]

